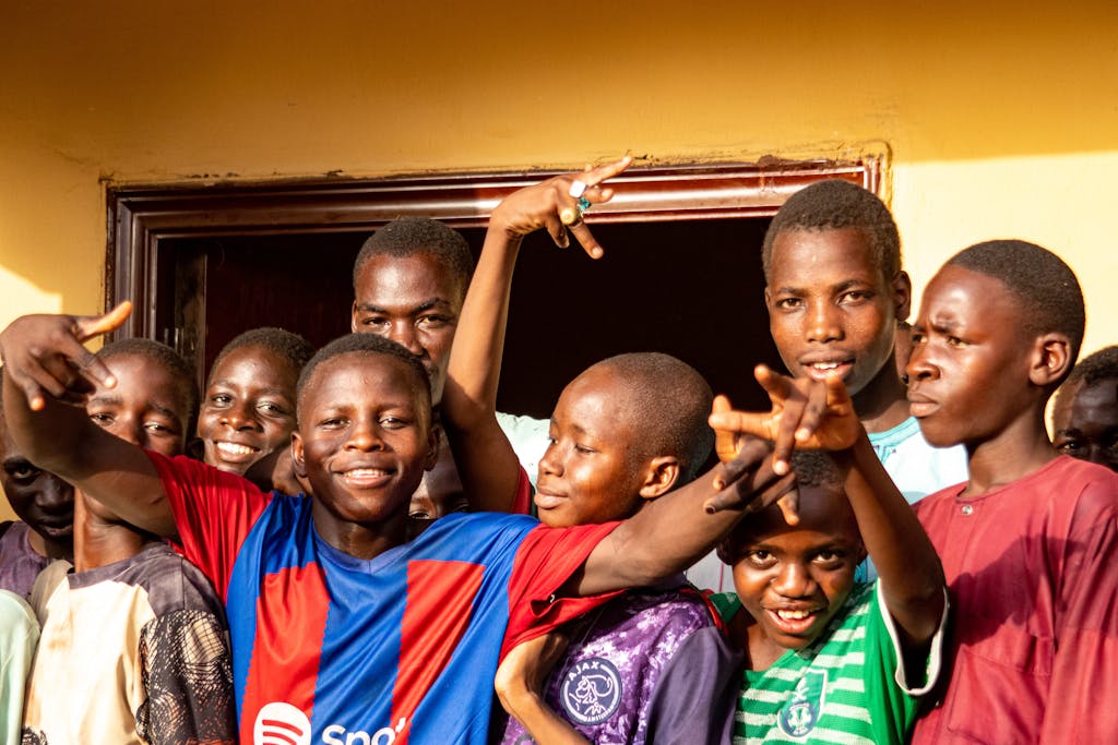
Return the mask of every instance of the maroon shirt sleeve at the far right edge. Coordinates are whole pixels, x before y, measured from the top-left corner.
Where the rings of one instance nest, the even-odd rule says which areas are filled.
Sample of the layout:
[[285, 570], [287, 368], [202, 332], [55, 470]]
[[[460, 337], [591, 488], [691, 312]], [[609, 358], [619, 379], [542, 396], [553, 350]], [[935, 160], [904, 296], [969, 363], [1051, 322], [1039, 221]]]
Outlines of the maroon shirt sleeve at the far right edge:
[[[1118, 489], [1089, 486], [1077, 505], [1063, 553], [1057, 652], [1040, 741], [1109, 743], [1118, 737]], [[1057, 697], [1059, 700], [1057, 700]]]

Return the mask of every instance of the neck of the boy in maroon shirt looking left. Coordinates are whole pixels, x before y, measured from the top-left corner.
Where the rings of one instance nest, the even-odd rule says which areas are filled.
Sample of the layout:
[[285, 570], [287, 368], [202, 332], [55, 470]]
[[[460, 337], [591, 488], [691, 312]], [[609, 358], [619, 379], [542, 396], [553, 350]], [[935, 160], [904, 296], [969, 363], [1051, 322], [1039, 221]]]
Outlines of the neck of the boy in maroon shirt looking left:
[[1044, 429], [1043, 405], [1030, 408], [996, 437], [965, 445], [970, 477], [963, 495], [968, 497], [1029, 476], [1058, 455]]

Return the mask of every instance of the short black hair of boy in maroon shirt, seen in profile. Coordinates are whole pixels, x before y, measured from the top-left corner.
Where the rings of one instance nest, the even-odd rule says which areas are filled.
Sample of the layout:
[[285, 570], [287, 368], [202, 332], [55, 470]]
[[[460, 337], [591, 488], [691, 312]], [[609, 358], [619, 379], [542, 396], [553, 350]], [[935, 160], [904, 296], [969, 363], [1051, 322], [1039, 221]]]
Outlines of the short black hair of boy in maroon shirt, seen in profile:
[[1076, 362], [1087, 312], [1076, 273], [1059, 256], [1025, 240], [999, 239], [965, 248], [944, 266], [999, 279], [1022, 305], [1022, 328], [1031, 336], [1063, 334], [1071, 342], [1071, 362]]

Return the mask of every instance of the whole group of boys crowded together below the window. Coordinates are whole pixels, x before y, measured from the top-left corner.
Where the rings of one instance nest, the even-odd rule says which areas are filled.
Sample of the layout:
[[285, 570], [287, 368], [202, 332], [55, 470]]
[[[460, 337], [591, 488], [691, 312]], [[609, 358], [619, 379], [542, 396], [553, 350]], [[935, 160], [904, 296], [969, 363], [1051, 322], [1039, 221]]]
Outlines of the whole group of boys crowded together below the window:
[[[271, 331], [236, 340], [201, 404], [203, 464], [182, 456], [189, 372], [149, 346], [83, 346], [126, 308], [0, 334], [3, 485], [34, 528], [0, 536], [0, 580], [63, 650], [40, 647], [23, 742], [1118, 734], [1118, 476], [1060, 457], [1044, 428], [1082, 340], [1071, 270], [1024, 241], [961, 251], [899, 362], [896, 225], [866, 190], [822, 182], [762, 250], [792, 373], [757, 371], [771, 411], [733, 411], [641, 353], [581, 373], [550, 421], [498, 412], [523, 237], [603, 256], [581, 214], [627, 166], [513, 193], [476, 271], [437, 222], [379, 230], [353, 277], [352, 328], [371, 333], [309, 361]], [[1112, 458], [1118, 376], [1086, 362], [1058, 441]], [[465, 505], [512, 514], [448, 514]], [[737, 592], [708, 598], [680, 572], [716, 546]], [[74, 571], [41, 572], [48, 557]], [[82, 608], [112, 618], [70, 623]], [[105, 639], [127, 630], [125, 672], [100, 676], [89, 640], [119, 655]], [[83, 675], [100, 678], [67, 677]], [[494, 679], [511, 718], [491, 716]], [[110, 689], [111, 720], [93, 704]]]

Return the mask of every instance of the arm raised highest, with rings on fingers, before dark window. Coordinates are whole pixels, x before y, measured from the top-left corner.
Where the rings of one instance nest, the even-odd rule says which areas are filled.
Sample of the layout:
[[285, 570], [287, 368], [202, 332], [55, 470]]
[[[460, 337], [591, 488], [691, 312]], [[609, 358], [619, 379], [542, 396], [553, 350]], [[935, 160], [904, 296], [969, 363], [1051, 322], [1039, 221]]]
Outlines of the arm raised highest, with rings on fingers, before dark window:
[[[626, 168], [623, 159], [582, 173], [556, 176], [510, 194], [490, 216], [485, 243], [458, 317], [443, 393], [442, 414], [454, 460], [474, 507], [490, 512], [512, 509], [520, 465], [496, 420], [496, 390], [501, 379], [509, 294], [517, 256], [524, 236], [546, 228], [556, 245], [567, 247], [569, 233], [594, 258], [601, 247], [594, 240], [578, 209], [581, 199], [600, 203], [613, 195], [599, 184]], [[572, 191], [576, 181], [581, 188]], [[565, 222], [572, 220], [574, 222]]]

